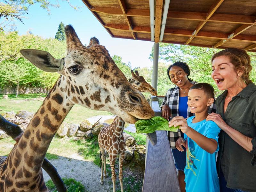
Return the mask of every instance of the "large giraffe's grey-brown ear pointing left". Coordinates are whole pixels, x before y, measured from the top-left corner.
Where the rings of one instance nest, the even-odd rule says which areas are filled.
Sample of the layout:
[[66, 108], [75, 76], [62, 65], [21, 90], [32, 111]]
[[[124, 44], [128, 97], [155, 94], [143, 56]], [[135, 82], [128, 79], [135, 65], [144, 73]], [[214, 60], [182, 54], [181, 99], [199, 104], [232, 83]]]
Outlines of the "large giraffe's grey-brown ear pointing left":
[[58, 72], [63, 69], [64, 58], [55, 59], [49, 52], [37, 49], [21, 49], [20, 53], [43, 71]]

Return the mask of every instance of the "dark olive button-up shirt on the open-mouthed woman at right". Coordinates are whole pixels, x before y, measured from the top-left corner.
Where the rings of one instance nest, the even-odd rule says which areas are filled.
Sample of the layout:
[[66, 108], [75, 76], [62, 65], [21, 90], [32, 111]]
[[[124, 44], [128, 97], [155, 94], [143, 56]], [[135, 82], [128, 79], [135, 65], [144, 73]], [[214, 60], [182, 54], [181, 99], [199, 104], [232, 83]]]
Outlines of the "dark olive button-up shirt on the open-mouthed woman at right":
[[256, 192], [256, 85], [248, 84], [233, 97], [224, 114], [227, 92], [216, 100], [217, 113], [230, 127], [252, 138], [252, 151], [248, 152], [221, 131], [217, 170], [221, 167], [228, 188]]

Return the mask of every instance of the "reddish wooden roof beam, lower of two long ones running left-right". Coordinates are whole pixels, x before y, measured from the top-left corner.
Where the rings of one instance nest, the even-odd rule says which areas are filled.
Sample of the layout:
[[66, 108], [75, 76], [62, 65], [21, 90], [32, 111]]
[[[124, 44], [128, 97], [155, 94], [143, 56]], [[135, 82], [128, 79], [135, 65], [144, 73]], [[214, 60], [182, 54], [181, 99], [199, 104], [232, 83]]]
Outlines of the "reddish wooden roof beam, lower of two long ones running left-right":
[[[130, 31], [127, 25], [117, 25], [117, 24], [105, 24], [105, 28], [119, 30], [119, 31]], [[143, 26], [133, 26], [133, 32], [137, 33], [148, 33], [150, 34], [150, 27], [143, 27]], [[228, 38], [228, 33], [220, 33], [220, 32], [212, 32], [212, 31], [199, 31], [197, 35], [192, 35], [192, 30], [187, 29], [172, 29], [172, 28], [165, 28], [164, 35], [174, 35], [174, 36], [186, 36], [186, 37], [200, 37], [200, 38], [207, 38], [207, 39], [225, 39]], [[256, 36], [252, 35], [237, 35], [233, 41], [243, 41], [243, 42], [250, 42], [256, 43]]]

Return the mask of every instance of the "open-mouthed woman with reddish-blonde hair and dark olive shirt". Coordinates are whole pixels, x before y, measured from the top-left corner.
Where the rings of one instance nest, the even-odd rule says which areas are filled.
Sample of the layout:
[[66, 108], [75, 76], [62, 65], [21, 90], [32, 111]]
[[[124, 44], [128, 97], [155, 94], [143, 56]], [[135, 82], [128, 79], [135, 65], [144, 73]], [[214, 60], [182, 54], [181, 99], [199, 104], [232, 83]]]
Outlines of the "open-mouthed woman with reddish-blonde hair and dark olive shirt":
[[236, 48], [212, 56], [212, 78], [219, 90], [214, 121], [221, 130], [217, 171], [220, 191], [256, 192], [256, 85], [249, 78], [250, 56]]

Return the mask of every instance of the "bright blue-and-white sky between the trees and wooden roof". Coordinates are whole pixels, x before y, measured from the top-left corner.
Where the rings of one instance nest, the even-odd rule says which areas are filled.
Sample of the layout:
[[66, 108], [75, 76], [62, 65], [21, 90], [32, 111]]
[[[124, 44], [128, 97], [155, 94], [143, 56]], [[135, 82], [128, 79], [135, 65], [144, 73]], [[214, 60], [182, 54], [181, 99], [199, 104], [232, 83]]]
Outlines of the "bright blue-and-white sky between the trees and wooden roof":
[[24, 24], [20, 21], [15, 22], [19, 35], [31, 31], [34, 35], [43, 38], [54, 38], [60, 22], [63, 22], [64, 25], [71, 24], [74, 27], [83, 44], [89, 44], [90, 38], [95, 36], [99, 39], [100, 44], [106, 47], [111, 56], [121, 56], [123, 62], [131, 63], [132, 69], [153, 65], [153, 61], [149, 60], [148, 57], [154, 42], [113, 38], [82, 0], [70, 2], [72, 5], [84, 7], [75, 11], [66, 1], [59, 1], [60, 7], [51, 7], [51, 15], [49, 16], [47, 11], [40, 7], [40, 4], [30, 6], [28, 15], [25, 15], [23, 19]]

